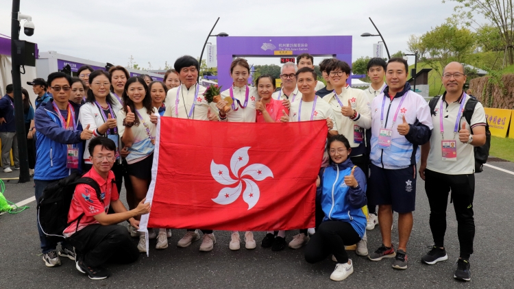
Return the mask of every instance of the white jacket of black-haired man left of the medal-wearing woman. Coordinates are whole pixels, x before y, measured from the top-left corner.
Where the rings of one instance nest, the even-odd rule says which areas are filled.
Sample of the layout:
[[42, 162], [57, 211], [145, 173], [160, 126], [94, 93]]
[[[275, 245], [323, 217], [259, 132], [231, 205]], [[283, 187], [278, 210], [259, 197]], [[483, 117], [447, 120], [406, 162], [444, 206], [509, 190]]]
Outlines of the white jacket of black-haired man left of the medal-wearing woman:
[[[213, 114], [218, 114], [218, 109], [216, 108], [216, 103], [208, 103], [204, 97], [204, 92], [206, 88], [204, 86], [199, 86], [198, 95], [195, 99], [196, 86], [199, 84], [195, 84], [191, 86], [189, 89], [186, 88], [184, 84], [176, 88], [171, 88], [168, 90], [166, 95], [166, 101], [164, 101], [164, 106], [166, 106], [166, 111], [164, 112], [164, 116], [178, 117], [178, 118], [189, 118], [189, 119], [197, 119], [200, 121], [208, 121], [209, 118], [207, 116], [208, 108], [210, 107], [210, 111]], [[175, 103], [177, 101], [177, 91], [178, 91], [178, 107], [175, 112]], [[184, 103], [185, 101], [185, 103]], [[191, 114], [191, 117], [188, 117], [189, 112], [191, 112], [191, 106], [195, 104], [195, 109]]]

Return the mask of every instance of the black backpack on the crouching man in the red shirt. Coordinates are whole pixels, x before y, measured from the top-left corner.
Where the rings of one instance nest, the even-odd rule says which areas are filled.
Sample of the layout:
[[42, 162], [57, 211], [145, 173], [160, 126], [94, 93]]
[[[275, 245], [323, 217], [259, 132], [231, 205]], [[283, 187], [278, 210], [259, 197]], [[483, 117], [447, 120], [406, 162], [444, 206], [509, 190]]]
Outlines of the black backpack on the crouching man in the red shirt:
[[97, 198], [101, 200], [100, 186], [97, 182], [90, 177], [82, 177], [77, 172], [49, 184], [37, 200], [39, 226], [45, 235], [64, 238], [64, 229], [75, 221], [77, 221], [78, 229], [80, 219], [84, 216], [84, 213], [80, 214], [75, 220], [68, 222], [71, 199], [73, 199], [75, 187], [78, 184], [93, 187], [97, 193]]

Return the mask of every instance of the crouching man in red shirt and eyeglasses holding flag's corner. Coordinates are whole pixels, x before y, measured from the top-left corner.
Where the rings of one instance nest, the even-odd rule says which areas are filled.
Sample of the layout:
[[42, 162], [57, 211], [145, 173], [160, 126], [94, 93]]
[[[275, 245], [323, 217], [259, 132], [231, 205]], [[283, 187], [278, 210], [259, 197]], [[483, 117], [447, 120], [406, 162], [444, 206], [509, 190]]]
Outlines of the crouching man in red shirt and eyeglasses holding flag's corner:
[[[114, 173], [111, 171], [116, 160], [116, 145], [109, 138], [100, 136], [89, 142], [90, 161], [93, 164], [84, 177], [95, 181], [100, 194], [92, 186], [79, 184], [75, 187], [68, 213], [68, 223], [64, 229], [66, 240], [75, 247], [77, 253], [75, 267], [90, 279], [106, 279], [110, 272], [101, 267], [108, 261], [116, 263], [135, 262], [139, 250], [132, 242], [127, 229], [117, 225], [128, 221], [139, 228], [134, 217], [150, 212], [150, 203], [143, 199], [136, 208], [128, 211], [119, 199]], [[107, 214], [109, 208], [114, 214]]]

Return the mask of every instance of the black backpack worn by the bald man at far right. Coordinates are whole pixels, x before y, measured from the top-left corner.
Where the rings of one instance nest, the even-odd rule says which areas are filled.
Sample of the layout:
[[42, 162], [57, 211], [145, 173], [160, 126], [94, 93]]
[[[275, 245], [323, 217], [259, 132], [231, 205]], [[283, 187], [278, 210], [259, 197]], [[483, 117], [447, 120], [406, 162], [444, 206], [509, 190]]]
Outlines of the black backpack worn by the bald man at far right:
[[[437, 105], [437, 101], [441, 98], [440, 95], [430, 99], [428, 106], [430, 107], [430, 114], [435, 115], [435, 106]], [[466, 119], [467, 123], [471, 124], [473, 112], [475, 110], [476, 103], [478, 103], [478, 99], [474, 96], [469, 95], [469, 100], [464, 105], [463, 116]], [[473, 134], [473, 129], [471, 131]], [[485, 144], [481, 147], [474, 147], [474, 156], [475, 156], [475, 173], [481, 173], [483, 170], [483, 165], [487, 162], [487, 158], [489, 157], [489, 149], [491, 149], [491, 131], [489, 131], [489, 123], [487, 123], [487, 118], [485, 120]]]

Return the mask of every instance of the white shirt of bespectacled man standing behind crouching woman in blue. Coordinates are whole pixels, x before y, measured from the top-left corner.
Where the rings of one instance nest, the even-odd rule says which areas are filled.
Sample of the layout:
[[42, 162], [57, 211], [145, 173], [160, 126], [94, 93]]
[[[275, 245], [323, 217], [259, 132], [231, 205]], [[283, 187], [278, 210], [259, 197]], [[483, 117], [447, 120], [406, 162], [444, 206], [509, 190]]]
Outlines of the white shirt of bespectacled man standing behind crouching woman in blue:
[[[350, 100], [352, 109], [357, 112], [355, 118], [341, 114], [341, 105], [339, 105], [339, 101], [337, 101], [336, 97], [345, 106], [348, 105], [348, 100]], [[369, 107], [369, 101], [363, 90], [346, 86], [343, 88], [341, 95], [336, 96], [334, 92], [330, 92], [323, 97], [323, 101], [329, 103], [334, 112], [335, 123], [337, 124], [339, 134], [342, 134], [348, 139], [350, 147], [358, 147], [360, 144], [354, 142], [354, 125], [358, 125], [363, 129], [371, 128], [371, 108]]]

